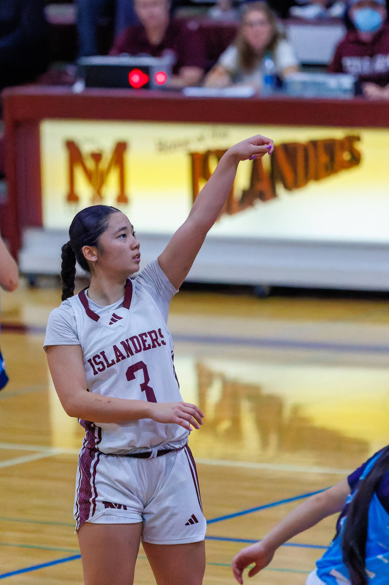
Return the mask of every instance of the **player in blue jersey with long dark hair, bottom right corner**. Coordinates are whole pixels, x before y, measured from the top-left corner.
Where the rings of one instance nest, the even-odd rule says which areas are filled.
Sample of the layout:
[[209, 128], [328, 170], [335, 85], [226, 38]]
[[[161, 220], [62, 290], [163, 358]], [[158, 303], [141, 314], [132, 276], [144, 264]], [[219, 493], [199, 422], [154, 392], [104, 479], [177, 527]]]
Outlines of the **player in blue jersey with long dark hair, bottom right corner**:
[[316, 561], [306, 585], [387, 585], [389, 445], [347, 479], [300, 504], [260, 542], [240, 550], [232, 561], [237, 582], [242, 585], [246, 567], [254, 563], [249, 571], [253, 577], [271, 562], [284, 542], [336, 512], [340, 516], [335, 538]]

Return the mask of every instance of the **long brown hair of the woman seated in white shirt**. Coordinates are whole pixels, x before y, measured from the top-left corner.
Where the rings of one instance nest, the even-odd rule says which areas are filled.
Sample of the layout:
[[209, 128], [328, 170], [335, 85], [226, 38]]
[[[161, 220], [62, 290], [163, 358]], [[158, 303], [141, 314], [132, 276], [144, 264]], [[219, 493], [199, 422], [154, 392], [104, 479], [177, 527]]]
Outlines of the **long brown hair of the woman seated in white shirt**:
[[254, 69], [256, 64], [263, 57], [263, 55], [259, 56], [254, 51], [253, 47], [247, 43], [245, 37], [243, 36], [243, 22], [246, 15], [250, 12], [262, 12], [263, 15], [266, 16], [268, 23], [273, 27], [273, 35], [271, 36], [270, 42], [268, 42], [267, 46], [264, 47], [263, 55], [266, 53], [266, 51], [271, 51], [273, 53], [276, 49], [277, 43], [284, 37], [283, 33], [278, 30], [276, 13], [274, 13], [271, 8], [268, 7], [266, 2], [250, 2], [249, 4], [246, 4], [246, 6], [243, 8], [242, 16], [240, 18], [240, 27], [236, 36], [235, 46], [237, 48], [239, 67], [248, 73]]

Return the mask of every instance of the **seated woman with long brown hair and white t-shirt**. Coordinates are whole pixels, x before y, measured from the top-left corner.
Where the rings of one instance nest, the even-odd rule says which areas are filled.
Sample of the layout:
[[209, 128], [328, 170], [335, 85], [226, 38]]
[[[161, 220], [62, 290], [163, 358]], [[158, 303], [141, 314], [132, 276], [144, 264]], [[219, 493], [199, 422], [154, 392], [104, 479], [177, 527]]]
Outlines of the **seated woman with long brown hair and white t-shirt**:
[[279, 77], [298, 70], [297, 59], [277, 27], [274, 12], [266, 2], [252, 2], [243, 9], [235, 43], [219, 57], [206, 76], [205, 85], [253, 85], [260, 90], [263, 59], [269, 55], [274, 62], [274, 73]]

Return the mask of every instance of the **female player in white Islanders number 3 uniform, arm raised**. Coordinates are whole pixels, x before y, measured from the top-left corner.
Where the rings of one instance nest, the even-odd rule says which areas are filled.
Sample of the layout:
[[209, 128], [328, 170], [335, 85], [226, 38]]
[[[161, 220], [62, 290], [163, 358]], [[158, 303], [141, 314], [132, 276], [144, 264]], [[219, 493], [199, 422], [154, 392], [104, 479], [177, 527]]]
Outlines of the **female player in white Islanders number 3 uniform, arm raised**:
[[[187, 441], [203, 415], [182, 402], [168, 305], [225, 205], [239, 161], [271, 152], [263, 136], [230, 148], [187, 220], [135, 280], [128, 277], [139, 269], [139, 242], [125, 215], [97, 205], [71, 223], [64, 302], [50, 314], [44, 346], [58, 397], [86, 431], [74, 504], [86, 585], [133, 583], [140, 539], [158, 585], [202, 583], [206, 522]], [[91, 281], [74, 297], [76, 259]]]

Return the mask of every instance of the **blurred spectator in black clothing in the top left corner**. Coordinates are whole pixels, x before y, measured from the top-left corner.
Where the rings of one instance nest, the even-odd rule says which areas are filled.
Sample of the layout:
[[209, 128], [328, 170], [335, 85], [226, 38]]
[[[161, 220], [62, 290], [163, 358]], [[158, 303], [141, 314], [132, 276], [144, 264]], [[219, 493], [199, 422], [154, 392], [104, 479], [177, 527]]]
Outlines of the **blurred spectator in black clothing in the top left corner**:
[[42, 0], [0, 1], [0, 90], [32, 81], [48, 64]]

